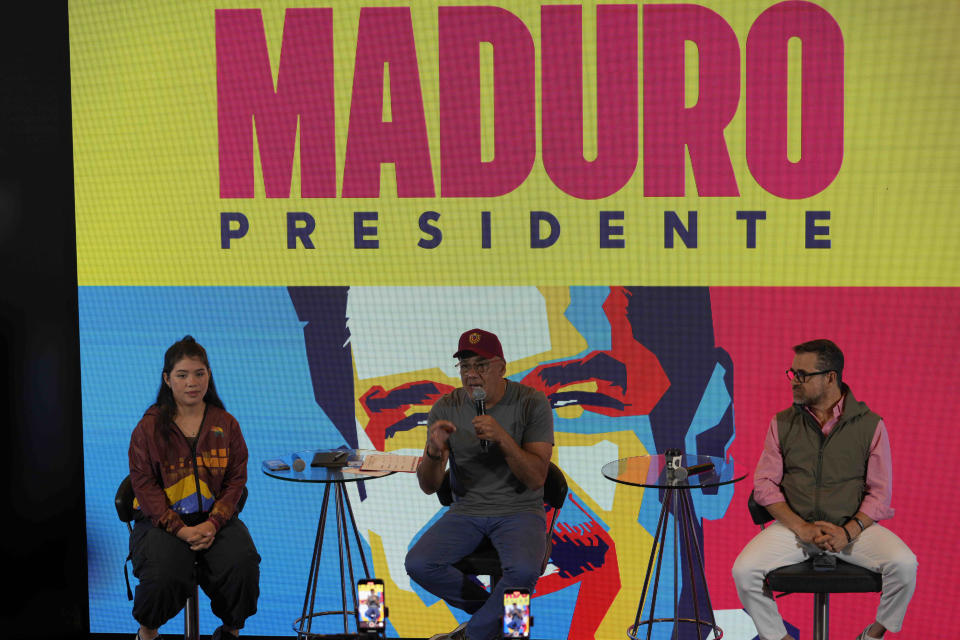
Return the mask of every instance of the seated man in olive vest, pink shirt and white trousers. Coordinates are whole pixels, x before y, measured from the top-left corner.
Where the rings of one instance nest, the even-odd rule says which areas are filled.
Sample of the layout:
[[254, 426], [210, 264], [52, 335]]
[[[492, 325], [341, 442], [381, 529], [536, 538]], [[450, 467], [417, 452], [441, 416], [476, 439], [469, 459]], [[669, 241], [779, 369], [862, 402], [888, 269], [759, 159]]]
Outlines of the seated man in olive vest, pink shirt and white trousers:
[[740, 552], [733, 579], [762, 640], [787, 640], [764, 576], [809, 555], [835, 554], [883, 574], [876, 621], [858, 640], [899, 631], [916, 586], [917, 558], [877, 524], [893, 515], [893, 465], [883, 419], [842, 380], [843, 353], [829, 340], [793, 348], [793, 406], [770, 421], [753, 496], [776, 522]]

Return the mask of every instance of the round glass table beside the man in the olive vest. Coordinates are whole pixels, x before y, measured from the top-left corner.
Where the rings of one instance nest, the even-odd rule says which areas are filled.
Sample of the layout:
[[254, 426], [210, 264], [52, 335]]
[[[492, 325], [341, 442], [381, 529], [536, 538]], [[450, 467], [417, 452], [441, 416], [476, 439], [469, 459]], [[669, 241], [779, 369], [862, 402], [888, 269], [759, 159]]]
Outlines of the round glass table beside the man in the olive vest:
[[[678, 462], [679, 464], [675, 464]], [[640, 594], [640, 603], [637, 605], [637, 615], [633, 624], [627, 628], [627, 636], [631, 640], [638, 640], [640, 628], [646, 626], [647, 640], [653, 632], [653, 625], [657, 623], [672, 623], [671, 638], [680, 638], [680, 625], [689, 624], [696, 627], [698, 640], [703, 640], [704, 628], [713, 632], [714, 640], [723, 636], [723, 630], [717, 626], [713, 617], [713, 606], [710, 603], [710, 594], [707, 591], [707, 582], [704, 575], [703, 552], [700, 540], [697, 538], [697, 515], [693, 508], [690, 492], [694, 489], [706, 489], [732, 484], [743, 480], [746, 472], [734, 467], [733, 461], [714, 456], [695, 456], [682, 454], [667, 456], [664, 454], [634, 456], [621, 458], [603, 465], [601, 469], [604, 477], [613, 482], [659, 489], [661, 496], [660, 518], [653, 534], [653, 546], [650, 549], [650, 559], [647, 562], [647, 573], [643, 580], [643, 591]], [[673, 514], [673, 616], [656, 618], [657, 590], [660, 584], [660, 568], [663, 564], [663, 550], [666, 546], [667, 523], [669, 514]], [[692, 617], [681, 617], [679, 607], [677, 571], [680, 548], [683, 548], [684, 560], [687, 567], [691, 596], [693, 600]], [[647, 589], [650, 579], [653, 578], [649, 617], [641, 620], [643, 605], [647, 598]], [[699, 578], [699, 580], [698, 580]], [[703, 588], [700, 594], [697, 585]], [[701, 596], [706, 610], [701, 613]], [[704, 615], [706, 614], [706, 615]], [[707, 617], [708, 616], [708, 617]], [[688, 636], [692, 637], [692, 636]]]

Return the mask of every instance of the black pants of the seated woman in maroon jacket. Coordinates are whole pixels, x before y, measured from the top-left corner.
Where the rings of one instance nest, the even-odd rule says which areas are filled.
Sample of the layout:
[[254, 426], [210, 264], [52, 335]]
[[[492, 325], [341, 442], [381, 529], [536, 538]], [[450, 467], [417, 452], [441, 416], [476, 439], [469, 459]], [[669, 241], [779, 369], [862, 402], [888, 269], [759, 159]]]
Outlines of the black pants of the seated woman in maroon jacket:
[[184, 607], [193, 591], [194, 561], [197, 583], [223, 624], [241, 629], [257, 612], [260, 555], [237, 518], [223, 525], [204, 551], [191, 551], [183, 540], [141, 520], [130, 536], [130, 551], [133, 575], [140, 580], [133, 617], [148, 629], [160, 627]]

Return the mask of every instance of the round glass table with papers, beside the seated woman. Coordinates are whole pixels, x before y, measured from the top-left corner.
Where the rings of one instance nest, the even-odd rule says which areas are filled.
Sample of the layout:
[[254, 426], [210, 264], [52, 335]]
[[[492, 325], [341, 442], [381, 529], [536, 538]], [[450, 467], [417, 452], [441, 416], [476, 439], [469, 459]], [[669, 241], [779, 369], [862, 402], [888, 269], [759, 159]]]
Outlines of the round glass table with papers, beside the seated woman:
[[[338, 459], [337, 466], [312, 466], [311, 462], [316, 454], [333, 454]], [[277, 480], [289, 482], [321, 483], [323, 488], [323, 502], [320, 506], [320, 519], [317, 523], [317, 537], [313, 543], [313, 558], [310, 561], [310, 574], [307, 578], [307, 589], [303, 597], [303, 610], [300, 617], [293, 621], [293, 630], [297, 638], [360, 638], [357, 633], [350, 632], [350, 620], [356, 624], [358, 608], [357, 593], [354, 585], [357, 583], [353, 571], [353, 554], [351, 553], [351, 535], [356, 544], [356, 553], [360, 556], [363, 565], [362, 578], [372, 578], [367, 558], [363, 552], [360, 532], [357, 530], [357, 521], [353, 517], [353, 508], [350, 506], [350, 497], [345, 485], [348, 482], [371, 480], [390, 475], [392, 472], [357, 473], [367, 454], [383, 455], [382, 451], [365, 449], [311, 449], [297, 451], [286, 455], [264, 460], [260, 468], [266, 475]], [[332, 456], [327, 455], [327, 458]], [[285, 467], [285, 468], [284, 468]], [[337, 523], [337, 552], [340, 561], [340, 609], [335, 611], [316, 611], [317, 578], [320, 573], [320, 559], [323, 552], [323, 534], [327, 522], [327, 508], [330, 504], [330, 488], [333, 487], [333, 503], [335, 505], [335, 519]], [[349, 518], [349, 520], [348, 520]], [[347, 577], [349, 576], [349, 581]], [[347, 594], [352, 599], [353, 609], [347, 608]], [[339, 615], [343, 617], [343, 633], [321, 634], [312, 630], [313, 619], [319, 616]]]

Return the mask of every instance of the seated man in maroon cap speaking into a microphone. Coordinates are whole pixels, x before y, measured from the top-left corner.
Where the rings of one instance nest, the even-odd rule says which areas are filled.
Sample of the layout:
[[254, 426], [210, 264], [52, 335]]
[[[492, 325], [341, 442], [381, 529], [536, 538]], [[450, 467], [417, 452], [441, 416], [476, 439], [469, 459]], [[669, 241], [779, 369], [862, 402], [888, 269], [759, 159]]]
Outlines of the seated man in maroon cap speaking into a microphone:
[[[553, 411], [542, 392], [504, 378], [503, 348], [489, 331], [465, 332], [453, 357], [463, 386], [430, 410], [417, 478], [424, 493], [435, 493], [449, 461], [454, 502], [410, 549], [406, 569], [424, 589], [472, 614], [434, 639], [489, 640], [500, 635], [504, 589], [533, 592], [540, 577]], [[484, 537], [503, 567], [490, 594], [453, 567]]]

